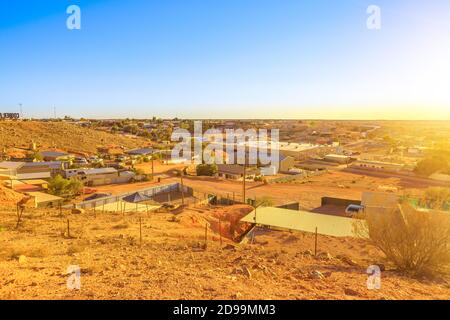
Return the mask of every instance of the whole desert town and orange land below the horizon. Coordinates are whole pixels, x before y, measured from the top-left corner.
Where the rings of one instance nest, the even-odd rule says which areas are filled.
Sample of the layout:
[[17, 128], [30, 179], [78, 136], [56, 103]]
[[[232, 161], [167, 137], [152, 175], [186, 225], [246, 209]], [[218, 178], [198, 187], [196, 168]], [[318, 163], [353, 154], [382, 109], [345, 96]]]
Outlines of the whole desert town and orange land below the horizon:
[[[450, 298], [450, 122], [203, 121], [279, 129], [276, 167], [173, 159], [193, 125], [1, 120], [0, 299]], [[444, 243], [411, 264], [392, 247], [418, 217]]]

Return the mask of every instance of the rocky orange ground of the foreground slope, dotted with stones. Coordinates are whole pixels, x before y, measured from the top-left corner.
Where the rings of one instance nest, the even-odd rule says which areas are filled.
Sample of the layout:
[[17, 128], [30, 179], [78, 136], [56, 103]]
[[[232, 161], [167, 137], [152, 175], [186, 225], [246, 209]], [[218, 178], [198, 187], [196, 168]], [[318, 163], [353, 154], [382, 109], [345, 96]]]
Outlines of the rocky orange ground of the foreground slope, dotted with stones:
[[[253, 244], [236, 244], [225, 232], [221, 244], [214, 219], [242, 210], [32, 210], [18, 230], [15, 212], [0, 210], [0, 299], [450, 298], [445, 280], [402, 275], [362, 240], [319, 236], [316, 257], [314, 237], [303, 233], [260, 230]], [[367, 289], [372, 264], [385, 267], [379, 290]], [[67, 287], [70, 265], [81, 268], [80, 290]]]

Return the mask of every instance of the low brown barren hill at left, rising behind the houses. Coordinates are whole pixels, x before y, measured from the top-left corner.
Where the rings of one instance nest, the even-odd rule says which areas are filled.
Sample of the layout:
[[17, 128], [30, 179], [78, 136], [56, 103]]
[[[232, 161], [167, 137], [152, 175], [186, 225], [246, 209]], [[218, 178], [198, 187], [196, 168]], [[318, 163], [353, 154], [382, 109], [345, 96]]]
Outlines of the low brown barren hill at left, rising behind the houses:
[[[149, 140], [131, 138], [66, 122], [5, 121], [0, 122], [0, 151], [17, 153], [17, 148], [28, 149], [32, 143], [38, 150], [62, 150], [73, 153], [97, 152], [98, 147], [126, 149], [147, 146]], [[25, 151], [24, 150], [24, 151]]]

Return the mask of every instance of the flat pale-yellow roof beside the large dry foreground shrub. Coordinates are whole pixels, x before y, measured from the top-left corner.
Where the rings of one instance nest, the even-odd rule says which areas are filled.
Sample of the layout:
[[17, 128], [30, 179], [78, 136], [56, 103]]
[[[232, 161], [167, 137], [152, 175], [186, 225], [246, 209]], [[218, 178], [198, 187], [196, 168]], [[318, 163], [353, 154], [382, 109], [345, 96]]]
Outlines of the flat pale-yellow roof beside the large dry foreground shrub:
[[[255, 223], [255, 210], [241, 221]], [[311, 233], [317, 228], [317, 233], [334, 237], [356, 237], [354, 232], [356, 221], [358, 220], [352, 218], [274, 207], [256, 210], [256, 224]]]

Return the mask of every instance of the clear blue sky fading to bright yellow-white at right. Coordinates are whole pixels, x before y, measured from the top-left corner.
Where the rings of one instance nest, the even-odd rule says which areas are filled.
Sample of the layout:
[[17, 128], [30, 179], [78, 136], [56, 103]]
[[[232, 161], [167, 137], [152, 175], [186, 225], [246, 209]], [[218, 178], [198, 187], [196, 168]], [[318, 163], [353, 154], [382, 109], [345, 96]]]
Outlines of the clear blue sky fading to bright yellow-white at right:
[[0, 2], [0, 112], [28, 117], [450, 119], [449, 57], [448, 0]]

